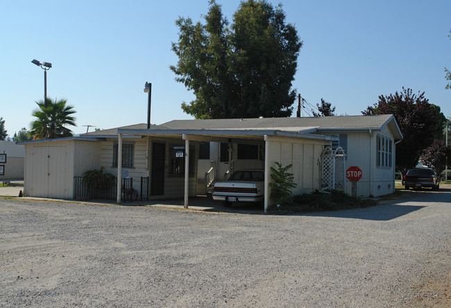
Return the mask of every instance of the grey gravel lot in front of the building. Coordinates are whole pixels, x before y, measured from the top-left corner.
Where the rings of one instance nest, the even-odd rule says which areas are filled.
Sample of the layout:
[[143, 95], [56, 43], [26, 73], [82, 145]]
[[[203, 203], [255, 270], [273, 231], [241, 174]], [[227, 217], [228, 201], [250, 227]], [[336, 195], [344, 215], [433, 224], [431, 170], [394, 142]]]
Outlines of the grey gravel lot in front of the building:
[[270, 216], [0, 199], [0, 306], [445, 307], [450, 202]]

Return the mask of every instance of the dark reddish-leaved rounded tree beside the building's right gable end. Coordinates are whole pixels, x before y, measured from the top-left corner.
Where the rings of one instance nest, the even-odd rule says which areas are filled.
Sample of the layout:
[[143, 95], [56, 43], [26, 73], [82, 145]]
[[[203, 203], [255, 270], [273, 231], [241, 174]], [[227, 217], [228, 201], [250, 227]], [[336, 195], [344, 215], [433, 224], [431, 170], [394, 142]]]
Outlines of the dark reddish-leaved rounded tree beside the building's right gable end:
[[441, 136], [446, 118], [440, 107], [425, 98], [425, 92], [414, 94], [411, 89], [379, 96], [379, 102], [368, 106], [362, 114], [393, 114], [402, 132], [402, 142], [396, 146], [396, 167], [405, 174], [416, 166], [423, 150]]

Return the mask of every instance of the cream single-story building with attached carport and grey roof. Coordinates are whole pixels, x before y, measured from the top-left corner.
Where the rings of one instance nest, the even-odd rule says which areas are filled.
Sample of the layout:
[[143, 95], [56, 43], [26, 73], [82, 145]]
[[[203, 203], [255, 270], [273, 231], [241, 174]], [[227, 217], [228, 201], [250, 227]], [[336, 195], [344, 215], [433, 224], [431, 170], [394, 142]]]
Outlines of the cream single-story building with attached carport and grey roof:
[[185, 197], [187, 206], [189, 196], [205, 194], [205, 179], [222, 180], [228, 172], [256, 168], [265, 171], [267, 209], [270, 167], [275, 162], [293, 164], [297, 184], [293, 194], [303, 194], [325, 188], [325, 148], [341, 147], [346, 156], [335, 175], [337, 181], [341, 179], [341, 188], [350, 194], [344, 172], [348, 166], [358, 166], [362, 177], [357, 196], [382, 196], [394, 191], [395, 143], [401, 139], [390, 114], [174, 120], [150, 129], [137, 124], [79, 137], [23, 142], [24, 193], [75, 198], [74, 178], [103, 166], [109, 173], [119, 171], [122, 177], [133, 178], [137, 190], [142, 190], [138, 179], [147, 178], [146, 198]]

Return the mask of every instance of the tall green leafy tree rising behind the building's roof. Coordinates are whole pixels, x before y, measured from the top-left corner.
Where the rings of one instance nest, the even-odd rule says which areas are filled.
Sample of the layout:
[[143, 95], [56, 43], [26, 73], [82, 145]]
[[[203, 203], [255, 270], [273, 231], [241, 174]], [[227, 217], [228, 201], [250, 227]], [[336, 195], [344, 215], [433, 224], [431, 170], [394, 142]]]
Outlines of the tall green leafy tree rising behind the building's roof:
[[182, 109], [197, 119], [289, 117], [302, 42], [285, 19], [265, 0], [242, 1], [230, 26], [214, 0], [205, 24], [180, 17], [171, 70], [196, 96]]

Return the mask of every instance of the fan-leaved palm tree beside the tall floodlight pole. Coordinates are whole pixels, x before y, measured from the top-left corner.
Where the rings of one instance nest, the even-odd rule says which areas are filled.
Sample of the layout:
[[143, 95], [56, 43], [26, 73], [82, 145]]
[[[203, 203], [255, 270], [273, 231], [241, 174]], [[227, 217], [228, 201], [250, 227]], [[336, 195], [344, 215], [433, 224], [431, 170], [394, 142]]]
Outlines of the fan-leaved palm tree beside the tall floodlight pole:
[[36, 103], [39, 107], [33, 110], [32, 115], [36, 119], [31, 122], [30, 130], [33, 140], [72, 136], [72, 131], [65, 126], [76, 126], [76, 118], [72, 117], [76, 111], [73, 106], [66, 105], [66, 99], [59, 101], [55, 99], [53, 103], [51, 99], [45, 97]]

